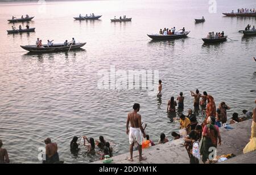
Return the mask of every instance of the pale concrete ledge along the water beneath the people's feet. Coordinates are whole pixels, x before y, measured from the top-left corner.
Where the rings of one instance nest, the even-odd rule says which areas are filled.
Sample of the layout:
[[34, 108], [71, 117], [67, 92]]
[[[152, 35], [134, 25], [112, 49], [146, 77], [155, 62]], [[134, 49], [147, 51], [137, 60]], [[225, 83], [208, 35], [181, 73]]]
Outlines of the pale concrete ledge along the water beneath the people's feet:
[[[248, 158], [246, 156], [238, 156], [243, 154], [243, 148], [249, 142], [251, 135], [251, 119], [243, 121], [240, 123], [234, 123], [232, 126], [234, 129], [225, 130], [220, 128], [222, 144], [217, 147], [217, 155], [226, 155], [228, 153], [233, 153], [237, 157], [237, 163], [244, 161]], [[127, 138], [128, 139], [128, 138]], [[147, 149], [142, 150], [143, 156], [147, 157], [147, 160], [139, 162], [138, 151], [134, 151], [134, 161], [128, 161], [130, 153], [125, 153], [122, 155], [112, 157], [113, 163], [118, 164], [181, 164], [189, 163], [187, 150], [181, 144], [184, 144], [183, 139], [173, 140], [165, 144], [159, 144]], [[127, 148], [127, 151], [129, 148]], [[255, 151], [254, 151], [255, 152]], [[246, 154], [247, 155], [247, 154]], [[241, 157], [239, 159], [239, 157]], [[230, 159], [231, 161], [231, 159]], [[96, 164], [101, 164], [102, 161], [94, 162]]]

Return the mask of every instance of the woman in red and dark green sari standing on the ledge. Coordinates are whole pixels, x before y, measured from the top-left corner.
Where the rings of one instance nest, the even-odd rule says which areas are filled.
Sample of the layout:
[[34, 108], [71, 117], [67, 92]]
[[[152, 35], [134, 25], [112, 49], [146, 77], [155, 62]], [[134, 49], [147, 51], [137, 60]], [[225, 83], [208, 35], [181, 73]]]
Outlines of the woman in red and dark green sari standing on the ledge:
[[[220, 131], [218, 130], [218, 126], [214, 125], [215, 117], [208, 117], [207, 125], [204, 126], [203, 129], [203, 142], [201, 144], [200, 154], [203, 156], [202, 161], [205, 163], [208, 159], [211, 161], [216, 155], [215, 152], [213, 156], [210, 157], [210, 154], [216, 150], [217, 143], [221, 145], [221, 136]], [[210, 149], [210, 147], [215, 148]], [[212, 158], [212, 159], [211, 159]]]

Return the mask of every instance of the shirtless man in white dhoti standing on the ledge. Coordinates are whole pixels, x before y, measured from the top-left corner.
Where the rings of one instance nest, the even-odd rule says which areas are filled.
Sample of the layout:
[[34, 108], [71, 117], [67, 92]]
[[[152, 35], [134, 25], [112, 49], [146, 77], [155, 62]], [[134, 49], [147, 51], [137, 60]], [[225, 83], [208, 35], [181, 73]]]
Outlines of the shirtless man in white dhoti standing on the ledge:
[[[138, 114], [140, 105], [135, 103], [133, 105], [133, 112], [128, 113], [127, 122], [126, 122], [126, 134], [129, 134], [129, 143], [130, 143], [130, 159], [133, 161], [133, 146], [134, 143], [138, 143], [139, 148], [139, 161], [146, 160], [146, 157], [142, 157], [142, 133], [143, 137], [146, 137], [144, 129], [141, 125], [141, 114]], [[129, 130], [129, 123], [131, 124]]]

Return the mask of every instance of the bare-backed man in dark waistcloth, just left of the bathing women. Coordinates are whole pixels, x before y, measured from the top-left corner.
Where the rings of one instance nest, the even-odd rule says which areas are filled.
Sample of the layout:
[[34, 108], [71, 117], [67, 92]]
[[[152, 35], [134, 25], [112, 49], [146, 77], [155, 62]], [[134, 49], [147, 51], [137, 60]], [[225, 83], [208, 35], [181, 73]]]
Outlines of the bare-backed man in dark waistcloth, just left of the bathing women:
[[57, 152], [57, 143], [52, 143], [50, 138], [44, 140], [46, 143], [46, 164], [59, 163], [59, 153]]

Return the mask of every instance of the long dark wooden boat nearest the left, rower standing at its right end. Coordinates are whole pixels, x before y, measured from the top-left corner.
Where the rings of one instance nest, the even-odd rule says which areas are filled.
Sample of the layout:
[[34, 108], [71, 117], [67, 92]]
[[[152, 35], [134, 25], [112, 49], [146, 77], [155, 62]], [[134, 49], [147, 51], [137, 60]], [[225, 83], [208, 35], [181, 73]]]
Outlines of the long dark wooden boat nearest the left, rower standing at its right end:
[[22, 49], [25, 49], [29, 52], [38, 52], [38, 53], [46, 53], [46, 52], [64, 52], [74, 49], [79, 49], [84, 46], [86, 42], [76, 43], [72, 46], [64, 46], [63, 44], [53, 44], [52, 47], [48, 47], [47, 44], [44, 44], [42, 47], [37, 48], [36, 45], [21, 45]]

